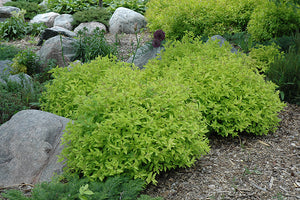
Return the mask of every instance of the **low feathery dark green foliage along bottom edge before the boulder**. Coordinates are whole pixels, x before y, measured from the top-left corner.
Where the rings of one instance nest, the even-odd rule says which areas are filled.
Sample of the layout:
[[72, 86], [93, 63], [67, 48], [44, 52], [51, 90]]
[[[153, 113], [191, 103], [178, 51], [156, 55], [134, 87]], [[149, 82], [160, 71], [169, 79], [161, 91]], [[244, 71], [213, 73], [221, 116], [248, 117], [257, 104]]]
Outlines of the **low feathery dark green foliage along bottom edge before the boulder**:
[[54, 180], [38, 184], [31, 197], [25, 197], [18, 190], [9, 190], [2, 196], [9, 200], [159, 200], [149, 196], [138, 198], [143, 186], [143, 181], [123, 176], [108, 178], [105, 182], [90, 182], [74, 176], [66, 183]]

